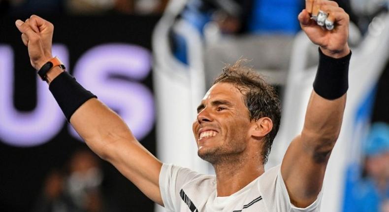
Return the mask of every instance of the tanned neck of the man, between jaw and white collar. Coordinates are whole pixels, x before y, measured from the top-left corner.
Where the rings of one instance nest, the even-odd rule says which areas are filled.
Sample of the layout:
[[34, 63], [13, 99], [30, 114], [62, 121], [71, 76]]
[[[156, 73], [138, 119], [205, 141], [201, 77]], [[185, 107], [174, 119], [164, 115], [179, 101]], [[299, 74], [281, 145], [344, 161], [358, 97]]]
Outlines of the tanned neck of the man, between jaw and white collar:
[[262, 175], [264, 167], [260, 157], [260, 152], [254, 157], [243, 153], [228, 156], [228, 161], [212, 164], [216, 173], [218, 197], [230, 196]]

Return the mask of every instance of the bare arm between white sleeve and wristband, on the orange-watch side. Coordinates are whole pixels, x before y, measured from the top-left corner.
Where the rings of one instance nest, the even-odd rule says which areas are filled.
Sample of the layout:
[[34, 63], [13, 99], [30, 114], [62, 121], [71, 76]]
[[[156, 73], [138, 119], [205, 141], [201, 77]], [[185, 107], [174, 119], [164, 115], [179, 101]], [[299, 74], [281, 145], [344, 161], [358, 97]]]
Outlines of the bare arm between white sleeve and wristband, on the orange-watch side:
[[162, 163], [136, 141], [119, 115], [92, 98], [73, 113], [70, 123], [98, 156], [163, 205], [159, 188]]

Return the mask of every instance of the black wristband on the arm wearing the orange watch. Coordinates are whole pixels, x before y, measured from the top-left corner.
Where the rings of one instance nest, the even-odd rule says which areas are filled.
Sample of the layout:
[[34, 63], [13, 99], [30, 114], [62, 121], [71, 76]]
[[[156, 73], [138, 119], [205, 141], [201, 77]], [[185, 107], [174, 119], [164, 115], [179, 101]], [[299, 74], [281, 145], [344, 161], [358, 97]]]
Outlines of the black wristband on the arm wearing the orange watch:
[[87, 100], [97, 98], [83, 88], [67, 71], [62, 72], [50, 83], [49, 90], [61, 107], [68, 122], [73, 113]]

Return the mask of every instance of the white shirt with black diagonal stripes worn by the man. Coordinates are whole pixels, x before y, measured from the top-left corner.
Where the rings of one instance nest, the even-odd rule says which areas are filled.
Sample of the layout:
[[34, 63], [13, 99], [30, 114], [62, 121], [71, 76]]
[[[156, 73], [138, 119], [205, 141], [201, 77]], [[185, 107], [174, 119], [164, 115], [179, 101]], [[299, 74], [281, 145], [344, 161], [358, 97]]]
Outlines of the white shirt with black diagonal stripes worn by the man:
[[217, 197], [216, 177], [163, 164], [160, 190], [166, 212], [319, 212], [322, 192], [305, 209], [292, 205], [281, 165], [228, 197]]

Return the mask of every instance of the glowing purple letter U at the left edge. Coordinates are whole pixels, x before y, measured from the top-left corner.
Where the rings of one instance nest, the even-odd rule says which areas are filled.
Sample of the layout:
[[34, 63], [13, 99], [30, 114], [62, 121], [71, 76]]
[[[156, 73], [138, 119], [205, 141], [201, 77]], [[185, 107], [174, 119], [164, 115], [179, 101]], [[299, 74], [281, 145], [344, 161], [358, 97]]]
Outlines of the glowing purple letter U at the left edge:
[[[67, 64], [68, 55], [65, 46], [53, 45], [53, 53]], [[64, 125], [64, 115], [47, 88], [47, 84], [38, 77], [36, 77], [36, 107], [29, 112], [17, 111], [14, 108], [13, 55], [10, 46], [0, 45], [0, 139], [13, 146], [39, 145], [57, 135]]]

